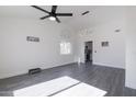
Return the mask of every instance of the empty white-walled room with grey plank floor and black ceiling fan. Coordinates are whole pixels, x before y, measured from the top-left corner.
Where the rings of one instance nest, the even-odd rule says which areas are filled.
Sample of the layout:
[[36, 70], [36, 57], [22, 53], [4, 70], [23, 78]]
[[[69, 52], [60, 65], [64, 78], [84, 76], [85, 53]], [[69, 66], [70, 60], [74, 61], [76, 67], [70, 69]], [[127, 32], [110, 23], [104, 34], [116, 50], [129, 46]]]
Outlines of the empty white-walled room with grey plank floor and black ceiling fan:
[[0, 97], [136, 97], [135, 12], [0, 5]]

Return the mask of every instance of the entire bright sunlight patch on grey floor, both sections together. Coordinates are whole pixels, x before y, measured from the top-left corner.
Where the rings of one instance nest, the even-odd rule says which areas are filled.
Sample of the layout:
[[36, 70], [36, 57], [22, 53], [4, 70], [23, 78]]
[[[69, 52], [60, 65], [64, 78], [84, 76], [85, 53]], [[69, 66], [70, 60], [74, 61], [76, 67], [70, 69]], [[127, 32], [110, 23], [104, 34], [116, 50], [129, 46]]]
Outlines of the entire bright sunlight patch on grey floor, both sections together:
[[[56, 94], [54, 94], [56, 93]], [[80, 82], [70, 77], [61, 77], [13, 91], [14, 97], [103, 97], [106, 91]]]

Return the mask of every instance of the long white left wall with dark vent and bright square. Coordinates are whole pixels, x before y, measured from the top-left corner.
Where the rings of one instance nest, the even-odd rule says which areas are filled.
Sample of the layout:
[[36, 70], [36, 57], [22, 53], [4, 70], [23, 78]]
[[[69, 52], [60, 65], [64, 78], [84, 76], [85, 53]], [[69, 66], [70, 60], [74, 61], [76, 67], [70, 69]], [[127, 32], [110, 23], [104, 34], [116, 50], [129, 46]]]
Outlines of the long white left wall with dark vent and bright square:
[[[1, 18], [0, 78], [25, 73], [31, 68], [46, 69], [73, 63], [75, 52], [71, 55], [59, 53], [65, 31], [66, 26], [56, 22]], [[27, 42], [26, 36], [39, 37], [41, 42]], [[73, 36], [70, 36], [67, 41], [73, 45]]]

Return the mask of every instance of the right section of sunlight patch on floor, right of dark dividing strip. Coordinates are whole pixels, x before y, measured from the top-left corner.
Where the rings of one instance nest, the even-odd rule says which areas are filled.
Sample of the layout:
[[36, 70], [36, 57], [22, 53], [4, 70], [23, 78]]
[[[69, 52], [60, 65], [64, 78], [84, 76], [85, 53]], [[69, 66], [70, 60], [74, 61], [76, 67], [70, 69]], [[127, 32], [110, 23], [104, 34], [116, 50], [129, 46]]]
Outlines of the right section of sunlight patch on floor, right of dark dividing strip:
[[54, 97], [103, 97], [106, 91], [100, 90], [87, 83], [79, 83], [66, 91], [63, 91]]

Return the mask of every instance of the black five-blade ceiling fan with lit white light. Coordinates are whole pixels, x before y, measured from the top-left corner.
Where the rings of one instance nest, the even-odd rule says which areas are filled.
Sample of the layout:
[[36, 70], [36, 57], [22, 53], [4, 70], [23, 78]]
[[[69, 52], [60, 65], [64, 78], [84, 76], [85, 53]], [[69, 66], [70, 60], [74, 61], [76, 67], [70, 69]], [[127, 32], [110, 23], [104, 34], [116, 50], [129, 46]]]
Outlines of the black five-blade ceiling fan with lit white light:
[[57, 5], [53, 5], [50, 12], [46, 11], [37, 5], [32, 5], [32, 7], [48, 14], [48, 15], [42, 16], [41, 20], [49, 19], [52, 21], [57, 21], [58, 23], [60, 23], [60, 20], [58, 19], [58, 16], [72, 16], [72, 13], [56, 13]]

